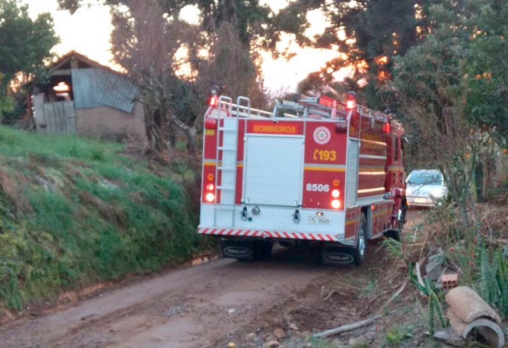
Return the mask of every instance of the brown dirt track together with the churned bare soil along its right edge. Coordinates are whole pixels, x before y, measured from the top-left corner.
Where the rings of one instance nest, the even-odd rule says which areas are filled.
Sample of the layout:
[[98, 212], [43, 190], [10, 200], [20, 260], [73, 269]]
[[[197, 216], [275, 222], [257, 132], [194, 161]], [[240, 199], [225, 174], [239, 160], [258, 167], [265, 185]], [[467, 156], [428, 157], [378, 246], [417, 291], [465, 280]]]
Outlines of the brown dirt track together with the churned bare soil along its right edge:
[[362, 289], [391, 266], [377, 249], [369, 245], [360, 267], [322, 266], [319, 255], [276, 248], [269, 260], [220, 259], [121, 287], [102, 284], [92, 289], [99, 295], [82, 291], [76, 302], [68, 294], [62, 301], [70, 304], [4, 323], [0, 347], [242, 347], [251, 332], [265, 339], [275, 329], [329, 329], [359, 317]]

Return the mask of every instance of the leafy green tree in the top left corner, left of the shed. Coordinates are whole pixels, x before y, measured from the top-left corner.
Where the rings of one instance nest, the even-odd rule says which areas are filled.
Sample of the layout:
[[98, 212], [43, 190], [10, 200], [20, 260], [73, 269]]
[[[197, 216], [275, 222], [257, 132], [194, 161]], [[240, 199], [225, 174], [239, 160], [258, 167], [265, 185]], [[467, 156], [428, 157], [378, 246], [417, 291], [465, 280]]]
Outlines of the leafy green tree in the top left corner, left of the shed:
[[0, 0], [0, 115], [14, 107], [8, 98], [10, 82], [18, 73], [31, 75], [42, 69], [58, 42], [49, 13], [32, 20], [28, 6]]

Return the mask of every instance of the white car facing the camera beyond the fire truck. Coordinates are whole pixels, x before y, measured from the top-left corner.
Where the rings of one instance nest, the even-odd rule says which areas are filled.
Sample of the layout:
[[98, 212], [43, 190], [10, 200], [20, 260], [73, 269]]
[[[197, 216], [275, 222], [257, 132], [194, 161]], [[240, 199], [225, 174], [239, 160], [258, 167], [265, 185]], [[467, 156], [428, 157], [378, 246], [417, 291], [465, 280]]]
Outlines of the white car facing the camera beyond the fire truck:
[[444, 177], [436, 169], [414, 170], [407, 177], [406, 184], [408, 206], [433, 207], [448, 195]]

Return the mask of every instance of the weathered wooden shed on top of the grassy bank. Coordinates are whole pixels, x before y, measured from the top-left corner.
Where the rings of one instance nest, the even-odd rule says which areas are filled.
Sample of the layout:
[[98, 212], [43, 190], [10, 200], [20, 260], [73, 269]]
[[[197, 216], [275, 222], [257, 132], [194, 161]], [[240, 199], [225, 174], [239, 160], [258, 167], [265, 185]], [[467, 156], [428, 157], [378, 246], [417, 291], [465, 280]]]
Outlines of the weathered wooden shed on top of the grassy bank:
[[45, 84], [30, 88], [29, 110], [42, 133], [146, 139], [141, 88], [125, 75], [72, 51]]

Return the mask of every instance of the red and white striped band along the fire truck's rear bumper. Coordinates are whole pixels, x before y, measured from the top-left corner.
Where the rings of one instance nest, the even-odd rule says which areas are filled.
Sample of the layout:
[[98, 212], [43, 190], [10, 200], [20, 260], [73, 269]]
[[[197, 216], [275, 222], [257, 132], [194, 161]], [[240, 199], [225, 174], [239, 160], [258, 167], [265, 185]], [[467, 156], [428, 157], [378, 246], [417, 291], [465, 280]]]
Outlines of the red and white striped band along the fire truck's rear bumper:
[[329, 235], [321, 233], [304, 233], [304, 232], [277, 232], [264, 230], [237, 230], [237, 229], [220, 229], [220, 228], [198, 228], [199, 234], [210, 236], [243, 236], [243, 237], [263, 237], [279, 239], [305, 239], [305, 240], [322, 240], [336, 242], [338, 235]]

